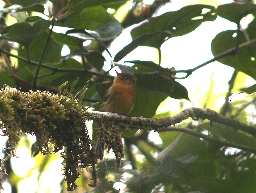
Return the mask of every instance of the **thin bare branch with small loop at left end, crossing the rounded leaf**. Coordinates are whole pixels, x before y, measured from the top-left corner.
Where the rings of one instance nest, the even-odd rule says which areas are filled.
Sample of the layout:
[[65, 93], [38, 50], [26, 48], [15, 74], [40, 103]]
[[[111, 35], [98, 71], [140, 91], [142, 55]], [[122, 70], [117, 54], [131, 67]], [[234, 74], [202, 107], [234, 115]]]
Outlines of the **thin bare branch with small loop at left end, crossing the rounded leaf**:
[[197, 69], [199, 69], [199, 68], [201, 68], [201, 67], [203, 67], [203, 66], [205, 66], [205, 65], [207, 65], [207, 64], [209, 64], [211, 62], [214, 62], [216, 60], [224, 58], [224, 57], [226, 57], [228, 55], [234, 55], [237, 51], [242, 50], [244, 48], [253, 47], [253, 46], [255, 46], [255, 44], [256, 44], [256, 39], [253, 39], [251, 41], [241, 43], [237, 47], [230, 48], [230, 49], [228, 49], [228, 50], [226, 50], [226, 51], [224, 51], [224, 52], [222, 52], [220, 54], [217, 54], [214, 58], [210, 59], [209, 61], [207, 61], [207, 62], [205, 62], [205, 63], [203, 63], [203, 64], [201, 64], [199, 66], [196, 66], [195, 68], [188, 69], [188, 70], [176, 70], [176, 71], [173, 71], [173, 73], [187, 73], [186, 76], [180, 77], [180, 78], [179, 77], [175, 77], [175, 79], [185, 79], [185, 78], [188, 78], [188, 76], [190, 74], [192, 74], [194, 71], [196, 71]]

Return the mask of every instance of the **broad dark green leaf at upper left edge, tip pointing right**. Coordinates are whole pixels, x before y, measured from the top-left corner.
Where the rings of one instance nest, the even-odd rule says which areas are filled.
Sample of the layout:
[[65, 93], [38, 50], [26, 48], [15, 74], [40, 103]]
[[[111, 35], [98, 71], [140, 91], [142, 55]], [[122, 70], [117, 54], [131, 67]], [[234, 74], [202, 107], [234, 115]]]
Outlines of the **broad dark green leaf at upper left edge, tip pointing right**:
[[28, 46], [36, 37], [48, 29], [51, 23], [52, 21], [44, 19], [16, 23], [6, 27], [1, 33], [1, 38]]

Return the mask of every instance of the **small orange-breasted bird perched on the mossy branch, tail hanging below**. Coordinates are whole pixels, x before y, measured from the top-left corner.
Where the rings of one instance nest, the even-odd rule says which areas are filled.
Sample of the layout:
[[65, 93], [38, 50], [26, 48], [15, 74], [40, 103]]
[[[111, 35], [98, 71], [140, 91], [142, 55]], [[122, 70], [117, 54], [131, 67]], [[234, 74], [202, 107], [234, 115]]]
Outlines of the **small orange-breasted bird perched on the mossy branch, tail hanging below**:
[[[128, 115], [134, 106], [136, 93], [136, 78], [129, 73], [118, 73], [111, 87], [103, 96], [100, 111], [116, 112]], [[95, 149], [100, 160], [103, 159], [105, 143], [98, 138]]]

